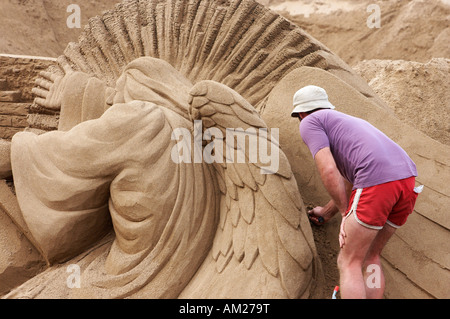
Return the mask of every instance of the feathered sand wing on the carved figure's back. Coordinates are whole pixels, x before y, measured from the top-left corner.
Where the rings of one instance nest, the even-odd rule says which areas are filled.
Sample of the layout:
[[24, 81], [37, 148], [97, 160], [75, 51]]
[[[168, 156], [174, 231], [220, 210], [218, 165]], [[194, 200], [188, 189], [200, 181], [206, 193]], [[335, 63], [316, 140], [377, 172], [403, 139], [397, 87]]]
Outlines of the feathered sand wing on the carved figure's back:
[[[316, 251], [297, 184], [277, 139], [258, 112], [227, 86], [201, 81], [190, 94], [191, 118], [202, 121], [203, 139], [210, 140], [203, 160], [214, 156], [221, 191], [212, 246], [217, 271], [222, 272], [231, 258], [247, 269], [260, 258], [267, 272], [280, 278], [289, 297], [301, 296], [311, 282]], [[270, 160], [277, 163], [264, 157], [269, 151]]]

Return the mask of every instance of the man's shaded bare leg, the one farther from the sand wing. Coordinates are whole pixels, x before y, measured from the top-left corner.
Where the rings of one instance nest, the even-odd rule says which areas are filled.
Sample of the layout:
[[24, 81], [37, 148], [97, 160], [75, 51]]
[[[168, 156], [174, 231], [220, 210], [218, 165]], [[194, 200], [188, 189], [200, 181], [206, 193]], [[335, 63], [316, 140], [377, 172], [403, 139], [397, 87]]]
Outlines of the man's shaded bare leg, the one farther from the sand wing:
[[[383, 268], [381, 267], [381, 252], [395, 233], [396, 228], [389, 226], [386, 224], [382, 230], [380, 230], [375, 237], [372, 246], [369, 248], [369, 252], [367, 253], [366, 259], [363, 264], [364, 270], [364, 281], [366, 282], [366, 296], [369, 299], [382, 299], [384, 295], [385, 288], [385, 280]], [[367, 270], [369, 268], [369, 271]], [[371, 285], [368, 285], [368, 281], [370, 281], [369, 276], [379, 276], [379, 278], [374, 278], [375, 282], [371, 282]]]

